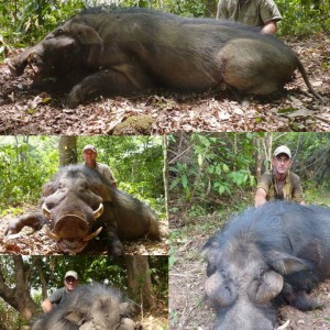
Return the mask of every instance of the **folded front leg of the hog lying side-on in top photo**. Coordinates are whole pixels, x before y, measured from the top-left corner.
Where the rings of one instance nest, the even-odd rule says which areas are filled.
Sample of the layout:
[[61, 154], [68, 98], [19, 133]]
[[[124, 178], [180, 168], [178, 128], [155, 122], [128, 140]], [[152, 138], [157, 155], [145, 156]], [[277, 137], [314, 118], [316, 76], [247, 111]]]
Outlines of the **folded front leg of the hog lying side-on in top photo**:
[[68, 96], [68, 107], [76, 108], [79, 103], [99, 96], [133, 92], [152, 86], [152, 79], [143, 69], [131, 65], [120, 65], [99, 70], [77, 84]]

